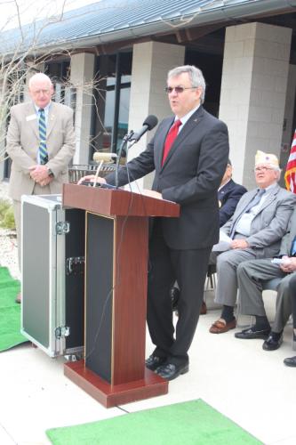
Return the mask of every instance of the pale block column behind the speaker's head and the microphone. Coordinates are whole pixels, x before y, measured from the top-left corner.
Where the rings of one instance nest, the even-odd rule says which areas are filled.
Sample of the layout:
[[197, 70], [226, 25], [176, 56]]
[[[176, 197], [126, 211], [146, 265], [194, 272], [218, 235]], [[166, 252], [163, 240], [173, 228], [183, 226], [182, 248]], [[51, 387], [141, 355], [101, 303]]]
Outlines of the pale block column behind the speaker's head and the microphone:
[[[170, 69], [184, 64], [185, 48], [176, 44], [148, 42], [134, 44], [132, 53], [132, 88], [129, 113], [129, 130], [138, 130], [148, 115], [153, 114], [160, 122], [172, 114], [167, 94], [164, 92], [166, 77]], [[145, 150], [154, 131], [145, 134], [132, 147], [129, 159]], [[149, 188], [152, 174], [139, 182]]]

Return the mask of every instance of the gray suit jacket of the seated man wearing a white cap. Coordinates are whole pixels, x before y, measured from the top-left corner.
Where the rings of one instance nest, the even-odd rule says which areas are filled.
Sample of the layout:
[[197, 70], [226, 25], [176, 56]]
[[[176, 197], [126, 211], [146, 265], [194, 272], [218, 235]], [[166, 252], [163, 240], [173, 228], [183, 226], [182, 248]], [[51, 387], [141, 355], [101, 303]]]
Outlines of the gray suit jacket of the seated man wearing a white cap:
[[[229, 235], [256, 192], [257, 190], [251, 190], [243, 195], [236, 206], [236, 212], [228, 223], [223, 225], [222, 231]], [[257, 258], [268, 258], [278, 253], [295, 204], [296, 195], [277, 184], [273, 193], [268, 194], [260, 211], [252, 220], [251, 234], [246, 238], [249, 246], [256, 250]]]

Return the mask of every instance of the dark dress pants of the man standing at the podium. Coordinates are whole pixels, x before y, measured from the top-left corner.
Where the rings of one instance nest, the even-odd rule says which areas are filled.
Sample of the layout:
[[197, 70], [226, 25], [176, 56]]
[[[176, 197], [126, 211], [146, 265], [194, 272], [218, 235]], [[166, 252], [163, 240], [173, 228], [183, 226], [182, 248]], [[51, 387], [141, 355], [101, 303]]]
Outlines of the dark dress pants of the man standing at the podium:
[[[154, 354], [180, 365], [188, 361], [188, 349], [196, 331], [204, 298], [204, 280], [211, 247], [175, 250], [164, 240], [161, 220], [156, 219], [149, 243], [148, 329], [156, 344]], [[170, 290], [180, 286], [179, 317], [174, 336]]]

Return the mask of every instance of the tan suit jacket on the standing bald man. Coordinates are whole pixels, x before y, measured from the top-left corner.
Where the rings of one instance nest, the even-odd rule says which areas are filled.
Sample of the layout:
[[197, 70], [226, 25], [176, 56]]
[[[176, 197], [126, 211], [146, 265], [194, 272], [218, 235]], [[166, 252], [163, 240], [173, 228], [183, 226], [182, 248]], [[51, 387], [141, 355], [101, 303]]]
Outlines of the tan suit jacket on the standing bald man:
[[[60, 193], [63, 182], [68, 182], [68, 163], [75, 153], [73, 110], [52, 102], [46, 129], [48, 166], [54, 174], [49, 184], [51, 193]], [[11, 109], [11, 120], [6, 138], [6, 151], [12, 158], [10, 196], [33, 193], [35, 182], [28, 168], [37, 164], [39, 148], [38, 120], [33, 102], [20, 103]]]

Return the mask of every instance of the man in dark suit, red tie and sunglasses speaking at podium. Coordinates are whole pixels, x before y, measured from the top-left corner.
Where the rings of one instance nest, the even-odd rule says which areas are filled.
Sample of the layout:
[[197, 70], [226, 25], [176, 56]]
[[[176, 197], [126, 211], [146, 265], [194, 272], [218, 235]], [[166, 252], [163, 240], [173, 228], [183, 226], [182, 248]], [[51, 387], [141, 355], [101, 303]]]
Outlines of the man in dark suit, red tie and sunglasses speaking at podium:
[[[228, 129], [202, 106], [200, 69], [172, 69], [165, 91], [174, 116], [158, 125], [140, 156], [120, 167], [117, 180], [121, 186], [155, 171], [152, 190], [145, 194], [180, 204], [179, 218], [153, 219], [149, 239], [147, 317], [156, 349], [146, 367], [172, 380], [188, 372], [209, 255], [219, 239], [217, 190], [228, 163]], [[116, 174], [99, 181], [114, 185]], [[174, 335], [170, 290], [176, 279], [180, 299]]]

